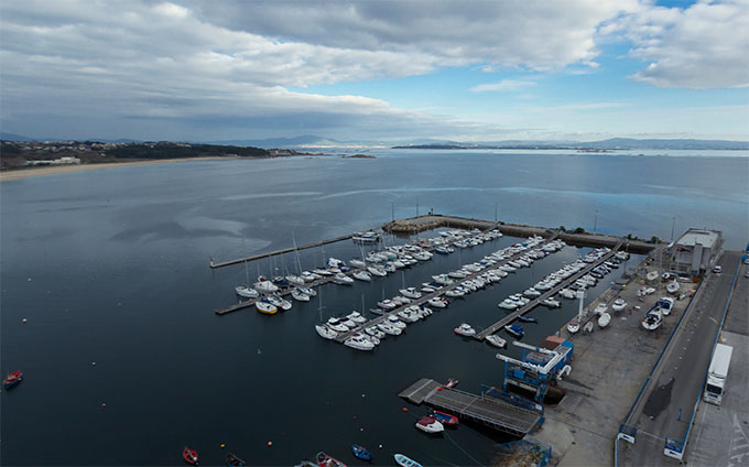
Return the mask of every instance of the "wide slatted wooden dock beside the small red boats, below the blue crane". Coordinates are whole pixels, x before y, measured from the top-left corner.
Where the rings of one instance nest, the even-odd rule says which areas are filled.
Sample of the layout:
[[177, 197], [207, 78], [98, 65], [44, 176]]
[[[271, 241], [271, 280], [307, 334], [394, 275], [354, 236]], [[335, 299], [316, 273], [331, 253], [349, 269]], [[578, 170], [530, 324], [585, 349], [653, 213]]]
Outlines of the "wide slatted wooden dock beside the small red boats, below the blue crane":
[[415, 404], [423, 402], [459, 419], [482, 423], [514, 436], [527, 435], [543, 422], [543, 415], [539, 412], [492, 397], [445, 388], [426, 378], [414, 382], [398, 395]]

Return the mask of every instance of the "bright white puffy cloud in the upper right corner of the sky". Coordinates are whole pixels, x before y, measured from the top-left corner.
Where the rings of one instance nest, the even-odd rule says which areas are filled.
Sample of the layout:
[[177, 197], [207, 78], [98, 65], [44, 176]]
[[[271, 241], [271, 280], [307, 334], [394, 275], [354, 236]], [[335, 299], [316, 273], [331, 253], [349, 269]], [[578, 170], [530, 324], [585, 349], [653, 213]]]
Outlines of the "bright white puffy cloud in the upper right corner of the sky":
[[608, 24], [605, 33], [623, 32], [629, 56], [648, 65], [631, 75], [663, 88], [737, 88], [749, 86], [749, 2], [699, 1], [686, 9], [650, 7]]

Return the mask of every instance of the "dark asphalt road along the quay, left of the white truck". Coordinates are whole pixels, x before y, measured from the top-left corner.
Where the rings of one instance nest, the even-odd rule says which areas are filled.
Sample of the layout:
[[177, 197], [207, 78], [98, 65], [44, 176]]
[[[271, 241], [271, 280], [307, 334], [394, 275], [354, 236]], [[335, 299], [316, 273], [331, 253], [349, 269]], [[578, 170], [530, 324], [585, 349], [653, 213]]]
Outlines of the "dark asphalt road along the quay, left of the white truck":
[[663, 454], [664, 438], [684, 438], [739, 261], [738, 252], [726, 251], [718, 261], [724, 272], [707, 274], [661, 362], [656, 382], [650, 385], [632, 417], [638, 435], [637, 443], [628, 449], [627, 465], [679, 464]]

